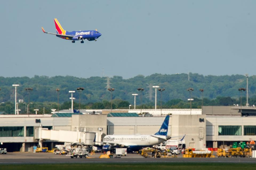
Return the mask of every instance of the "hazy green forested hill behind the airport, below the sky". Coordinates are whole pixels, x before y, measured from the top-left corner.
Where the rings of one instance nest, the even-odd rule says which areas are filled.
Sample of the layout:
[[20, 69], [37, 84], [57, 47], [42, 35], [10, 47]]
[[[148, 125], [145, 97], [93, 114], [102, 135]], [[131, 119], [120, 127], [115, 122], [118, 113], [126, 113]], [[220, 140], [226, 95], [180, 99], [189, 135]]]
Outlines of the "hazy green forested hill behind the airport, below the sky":
[[[25, 88], [33, 88], [30, 92], [30, 101], [43, 102], [54, 101], [57, 102], [56, 88], [60, 89], [60, 103], [69, 101], [70, 94], [68, 91], [75, 90], [77, 87], [84, 87], [85, 90], [81, 92], [81, 103], [98, 102], [102, 100], [110, 100], [110, 92], [106, 90], [107, 77], [90, 77], [78, 78], [72, 76], [34, 76], [29, 77], [0, 77], [0, 102], [14, 100], [14, 87], [12, 84], [19, 84], [17, 87], [17, 99], [24, 99], [27, 102], [28, 92]], [[238, 88], [246, 88], [246, 77], [244, 75], [224, 75], [224, 76], [203, 76], [199, 74], [152, 74], [150, 76], [138, 75], [130, 79], [123, 79], [120, 76], [110, 78], [110, 86], [115, 88], [113, 92], [113, 99], [122, 99], [133, 103], [133, 93], [137, 91], [138, 87], [144, 88], [142, 100], [143, 103], [150, 102], [149, 92], [150, 86], [160, 86], [165, 88], [162, 92], [163, 102], [171, 99], [186, 100], [189, 97], [187, 88], [194, 89], [192, 97], [201, 98], [201, 91], [204, 89], [203, 97], [214, 99], [218, 96], [222, 97], [239, 97]], [[256, 76], [249, 77], [249, 96], [255, 95]], [[154, 89], [152, 97], [154, 97]], [[246, 92], [242, 94], [246, 95]], [[76, 91], [74, 97], [78, 99], [78, 92]], [[138, 98], [139, 99], [139, 98]], [[158, 101], [160, 99], [160, 92], [158, 92]], [[154, 101], [154, 98], [151, 98]], [[78, 100], [76, 100], [78, 102]]]

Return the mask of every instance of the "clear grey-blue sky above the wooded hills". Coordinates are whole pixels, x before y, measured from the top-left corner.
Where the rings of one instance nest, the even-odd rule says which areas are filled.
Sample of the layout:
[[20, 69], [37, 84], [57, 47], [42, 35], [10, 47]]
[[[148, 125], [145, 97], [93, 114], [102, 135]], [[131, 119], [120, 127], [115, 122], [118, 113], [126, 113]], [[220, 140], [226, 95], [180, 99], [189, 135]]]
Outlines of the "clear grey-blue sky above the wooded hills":
[[[0, 76], [256, 75], [256, 1], [1, 1]], [[97, 41], [54, 35], [95, 30]]]

